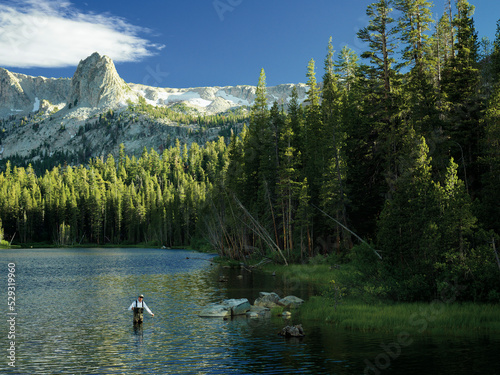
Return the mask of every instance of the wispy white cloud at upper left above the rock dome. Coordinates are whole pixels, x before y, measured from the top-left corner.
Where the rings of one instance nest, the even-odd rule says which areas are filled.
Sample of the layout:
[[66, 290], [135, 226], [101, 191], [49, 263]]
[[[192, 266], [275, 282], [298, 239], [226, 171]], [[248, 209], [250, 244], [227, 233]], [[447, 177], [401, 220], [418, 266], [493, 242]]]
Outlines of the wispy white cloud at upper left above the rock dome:
[[137, 61], [164, 47], [139, 36], [148, 31], [120, 17], [83, 13], [67, 1], [10, 0], [0, 3], [0, 66], [75, 66], [93, 52]]

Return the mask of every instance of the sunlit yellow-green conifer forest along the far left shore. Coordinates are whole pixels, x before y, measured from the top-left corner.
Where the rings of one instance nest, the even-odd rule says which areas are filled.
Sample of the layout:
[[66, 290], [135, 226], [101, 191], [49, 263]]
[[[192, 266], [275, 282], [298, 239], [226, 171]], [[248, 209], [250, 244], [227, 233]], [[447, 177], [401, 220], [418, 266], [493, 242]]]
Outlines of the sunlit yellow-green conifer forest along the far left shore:
[[[200, 148], [175, 147], [160, 156], [93, 159], [37, 177], [7, 164], [0, 174], [5, 236], [21, 243], [189, 245], [199, 210], [227, 166], [222, 138]], [[10, 239], [9, 237], [7, 237]]]

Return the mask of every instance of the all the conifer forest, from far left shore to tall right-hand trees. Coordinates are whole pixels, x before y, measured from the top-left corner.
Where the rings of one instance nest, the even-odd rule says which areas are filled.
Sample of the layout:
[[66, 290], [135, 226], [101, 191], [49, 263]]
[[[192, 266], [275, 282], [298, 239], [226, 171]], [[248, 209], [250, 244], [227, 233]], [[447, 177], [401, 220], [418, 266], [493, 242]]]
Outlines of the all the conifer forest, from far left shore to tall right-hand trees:
[[[223, 140], [43, 177], [0, 175], [0, 217], [20, 241], [201, 238], [220, 254], [282, 263], [356, 262], [381, 296], [499, 301], [500, 22], [479, 40], [473, 6], [370, 5], [361, 55], [330, 41], [304, 103], [268, 103], [261, 71], [250, 124]], [[453, 9], [452, 9], [453, 8]], [[147, 108], [144, 108], [145, 110]], [[36, 202], [36, 203], [35, 203]], [[369, 275], [368, 275], [369, 274]]]

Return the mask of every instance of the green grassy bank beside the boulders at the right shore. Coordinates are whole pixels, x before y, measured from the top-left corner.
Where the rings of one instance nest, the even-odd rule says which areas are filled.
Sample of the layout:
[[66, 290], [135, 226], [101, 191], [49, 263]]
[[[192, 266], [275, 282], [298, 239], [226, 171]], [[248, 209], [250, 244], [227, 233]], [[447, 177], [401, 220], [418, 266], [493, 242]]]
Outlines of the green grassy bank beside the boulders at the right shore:
[[324, 321], [339, 328], [361, 331], [425, 333], [500, 333], [500, 305], [460, 303], [453, 296], [430, 303], [395, 303], [380, 296], [373, 280], [348, 265], [308, 264], [273, 266], [266, 272], [314, 285], [298, 318]]

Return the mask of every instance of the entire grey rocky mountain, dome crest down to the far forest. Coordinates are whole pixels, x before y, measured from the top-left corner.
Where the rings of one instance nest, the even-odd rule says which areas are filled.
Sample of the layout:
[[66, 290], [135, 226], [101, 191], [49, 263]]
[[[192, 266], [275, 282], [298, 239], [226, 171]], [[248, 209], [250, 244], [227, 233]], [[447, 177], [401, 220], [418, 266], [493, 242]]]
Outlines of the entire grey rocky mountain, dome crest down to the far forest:
[[[305, 84], [283, 84], [267, 88], [269, 106], [288, 103], [293, 87], [304, 101]], [[84, 162], [117, 155], [121, 143], [135, 155], [144, 147], [161, 151], [176, 140], [203, 144], [227, 135], [230, 128], [241, 129], [255, 93], [256, 86], [249, 85], [161, 88], [127, 83], [113, 61], [98, 53], [81, 60], [72, 78], [0, 68], [0, 159], [18, 157], [28, 163], [60, 153], [81, 155], [78, 160]], [[138, 113], [141, 100], [161, 115]], [[178, 115], [169, 117], [165, 111]], [[210, 126], [199, 123], [204, 116], [211, 116]]]

